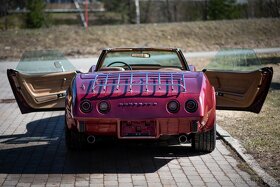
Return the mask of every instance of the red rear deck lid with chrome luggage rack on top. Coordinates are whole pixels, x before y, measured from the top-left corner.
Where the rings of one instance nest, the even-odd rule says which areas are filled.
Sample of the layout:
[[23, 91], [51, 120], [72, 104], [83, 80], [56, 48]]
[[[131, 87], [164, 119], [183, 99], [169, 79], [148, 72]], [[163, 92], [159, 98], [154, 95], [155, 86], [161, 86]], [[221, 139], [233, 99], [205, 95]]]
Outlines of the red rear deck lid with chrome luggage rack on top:
[[[113, 72], [80, 74], [80, 96], [99, 98], [123, 96], [176, 96], [198, 93], [199, 73], [194, 72]], [[193, 79], [192, 81], [188, 81]], [[195, 84], [199, 83], [199, 84]]]

